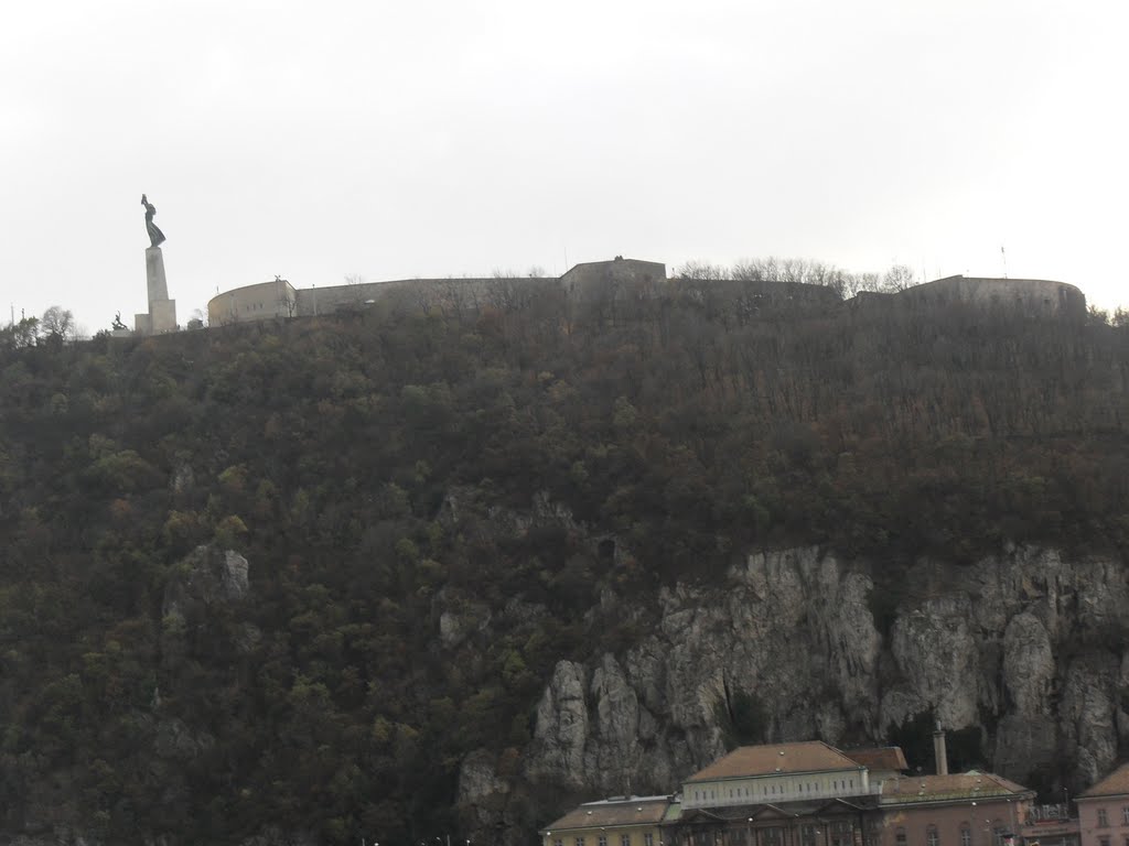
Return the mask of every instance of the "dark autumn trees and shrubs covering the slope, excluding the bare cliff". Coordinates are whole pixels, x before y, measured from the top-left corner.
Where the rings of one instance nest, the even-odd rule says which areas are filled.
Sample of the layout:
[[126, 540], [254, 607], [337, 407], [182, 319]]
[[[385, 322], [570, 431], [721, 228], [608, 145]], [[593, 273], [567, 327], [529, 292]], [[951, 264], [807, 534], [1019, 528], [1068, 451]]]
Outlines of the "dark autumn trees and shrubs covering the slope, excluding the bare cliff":
[[[630, 641], [585, 623], [610, 581], [817, 543], [883, 565], [890, 608], [910, 555], [1126, 548], [1129, 328], [725, 290], [0, 333], [3, 829], [431, 839], [462, 756], [516, 764], [553, 663]], [[542, 493], [615, 554], [493, 529]], [[201, 544], [251, 596], [170, 622]], [[553, 613], [438, 645], [440, 601], [515, 598]]]

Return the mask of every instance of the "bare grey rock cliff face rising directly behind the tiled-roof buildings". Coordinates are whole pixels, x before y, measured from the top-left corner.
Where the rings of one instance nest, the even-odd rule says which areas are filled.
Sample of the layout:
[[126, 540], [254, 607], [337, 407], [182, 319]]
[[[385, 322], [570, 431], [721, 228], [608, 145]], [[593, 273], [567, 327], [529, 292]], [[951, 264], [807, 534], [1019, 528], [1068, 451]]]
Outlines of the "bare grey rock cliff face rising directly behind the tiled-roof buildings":
[[1077, 788], [1110, 768], [1129, 741], [1119, 563], [1035, 548], [919, 562], [885, 618], [875, 567], [798, 548], [751, 554], [724, 584], [605, 592], [603, 613], [649, 615], [644, 634], [557, 664], [513, 775], [487, 750], [464, 763], [464, 820], [516, 843], [575, 799], [673, 792], [725, 751], [738, 695], [762, 708], [768, 741], [883, 742], [931, 714], [979, 733], [984, 766], [1033, 786]]

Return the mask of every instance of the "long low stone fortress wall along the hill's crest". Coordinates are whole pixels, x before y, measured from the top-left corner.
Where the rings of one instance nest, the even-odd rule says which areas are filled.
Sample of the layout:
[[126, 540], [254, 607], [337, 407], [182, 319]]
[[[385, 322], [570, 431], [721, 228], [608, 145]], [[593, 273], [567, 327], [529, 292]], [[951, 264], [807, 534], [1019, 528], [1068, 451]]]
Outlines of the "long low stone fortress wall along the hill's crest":
[[[388, 299], [420, 309], [450, 306], [476, 310], [505, 305], [523, 292], [533, 293], [544, 287], [557, 288], [567, 301], [593, 305], [627, 306], [632, 301], [673, 294], [698, 300], [717, 297], [742, 310], [754, 311], [765, 306], [831, 307], [843, 302], [834, 289], [825, 285], [667, 279], [666, 265], [660, 262], [616, 257], [575, 265], [559, 277], [413, 279], [296, 289], [275, 276], [271, 282], [217, 294], [208, 302], [208, 321], [211, 326], [226, 326], [278, 317], [313, 317], [360, 310]], [[913, 309], [966, 303], [1032, 317], [1077, 318], [1086, 314], [1085, 294], [1076, 287], [1031, 279], [948, 276], [896, 293], [860, 293], [850, 302], [863, 308], [904, 305]]]

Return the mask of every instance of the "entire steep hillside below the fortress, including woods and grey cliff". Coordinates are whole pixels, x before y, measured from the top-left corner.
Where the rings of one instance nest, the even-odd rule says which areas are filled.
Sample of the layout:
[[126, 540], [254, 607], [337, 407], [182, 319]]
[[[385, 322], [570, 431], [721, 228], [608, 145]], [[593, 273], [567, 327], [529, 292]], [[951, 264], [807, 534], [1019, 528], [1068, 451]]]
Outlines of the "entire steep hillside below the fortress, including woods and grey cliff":
[[1129, 329], [708, 293], [0, 344], [0, 843], [522, 843], [930, 712], [1117, 757]]

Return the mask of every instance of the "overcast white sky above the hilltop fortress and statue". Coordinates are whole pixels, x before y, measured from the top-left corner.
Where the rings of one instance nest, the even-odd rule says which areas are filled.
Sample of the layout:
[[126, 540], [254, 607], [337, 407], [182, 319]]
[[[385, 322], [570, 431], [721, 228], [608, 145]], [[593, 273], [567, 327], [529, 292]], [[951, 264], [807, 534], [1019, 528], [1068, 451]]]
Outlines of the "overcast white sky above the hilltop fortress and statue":
[[[1129, 305], [1129, 5], [28, 0], [0, 28], [0, 296], [625, 255], [1073, 282]], [[567, 264], [566, 264], [567, 257]]]

